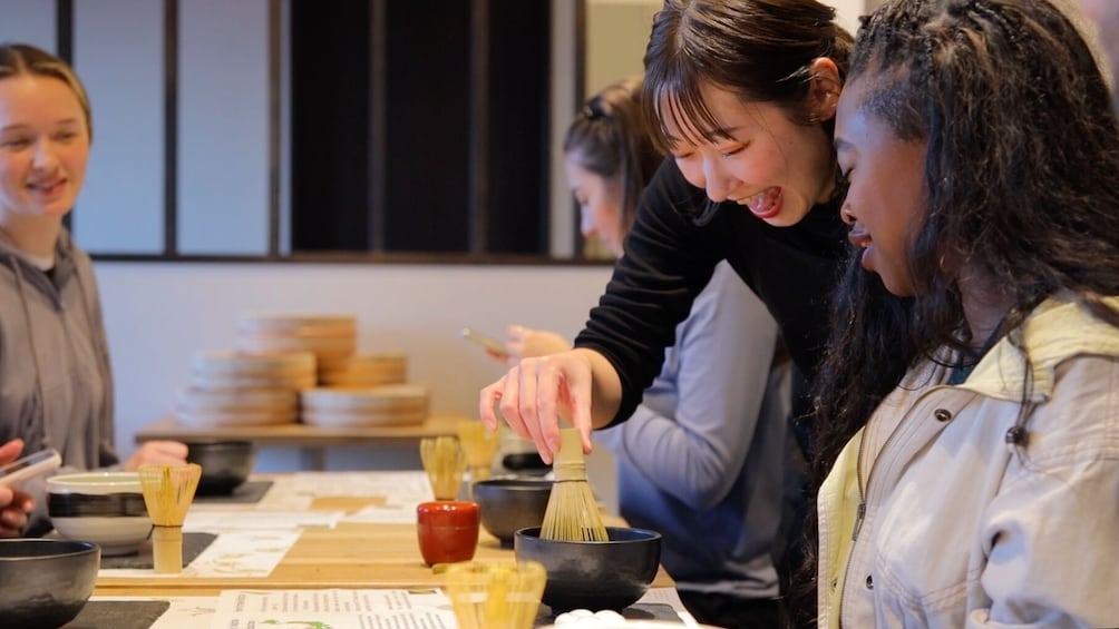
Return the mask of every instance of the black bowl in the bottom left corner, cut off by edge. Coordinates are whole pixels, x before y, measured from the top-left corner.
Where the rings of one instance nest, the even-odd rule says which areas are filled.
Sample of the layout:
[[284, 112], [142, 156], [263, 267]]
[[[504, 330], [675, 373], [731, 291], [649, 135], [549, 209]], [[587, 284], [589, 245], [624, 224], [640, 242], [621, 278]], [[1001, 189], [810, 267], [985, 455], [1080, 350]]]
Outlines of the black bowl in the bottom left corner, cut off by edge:
[[85, 607], [101, 550], [68, 540], [0, 540], [0, 625], [55, 628]]

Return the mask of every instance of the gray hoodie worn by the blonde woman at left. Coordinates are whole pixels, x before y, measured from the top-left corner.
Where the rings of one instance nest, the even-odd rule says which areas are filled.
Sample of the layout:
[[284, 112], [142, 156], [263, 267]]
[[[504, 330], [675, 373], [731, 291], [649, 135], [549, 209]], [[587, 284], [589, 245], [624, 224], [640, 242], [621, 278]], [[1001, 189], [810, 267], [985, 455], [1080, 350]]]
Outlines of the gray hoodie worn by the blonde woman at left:
[[[113, 379], [93, 264], [64, 228], [55, 268], [40, 270], [0, 234], [0, 444], [53, 447], [66, 471], [116, 465]], [[28, 534], [49, 531], [45, 480]]]

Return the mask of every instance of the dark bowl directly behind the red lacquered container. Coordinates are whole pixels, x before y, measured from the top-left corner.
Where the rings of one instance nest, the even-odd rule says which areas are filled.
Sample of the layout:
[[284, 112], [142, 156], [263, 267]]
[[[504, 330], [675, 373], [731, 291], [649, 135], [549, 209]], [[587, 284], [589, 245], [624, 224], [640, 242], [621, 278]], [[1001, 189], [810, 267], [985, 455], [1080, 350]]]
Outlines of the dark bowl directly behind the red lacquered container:
[[482, 515], [482, 528], [511, 549], [520, 528], [539, 526], [552, 496], [552, 482], [540, 478], [490, 478], [470, 486]]

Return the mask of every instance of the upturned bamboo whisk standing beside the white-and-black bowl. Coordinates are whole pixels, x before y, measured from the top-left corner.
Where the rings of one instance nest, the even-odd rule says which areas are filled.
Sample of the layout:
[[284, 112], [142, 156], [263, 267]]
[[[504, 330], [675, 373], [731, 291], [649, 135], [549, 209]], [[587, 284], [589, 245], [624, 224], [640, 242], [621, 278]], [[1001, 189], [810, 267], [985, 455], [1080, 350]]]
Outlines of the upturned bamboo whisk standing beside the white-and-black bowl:
[[151, 539], [156, 572], [182, 572], [182, 521], [195, 498], [203, 468], [194, 463], [141, 465], [139, 473], [144, 506], [154, 525]]

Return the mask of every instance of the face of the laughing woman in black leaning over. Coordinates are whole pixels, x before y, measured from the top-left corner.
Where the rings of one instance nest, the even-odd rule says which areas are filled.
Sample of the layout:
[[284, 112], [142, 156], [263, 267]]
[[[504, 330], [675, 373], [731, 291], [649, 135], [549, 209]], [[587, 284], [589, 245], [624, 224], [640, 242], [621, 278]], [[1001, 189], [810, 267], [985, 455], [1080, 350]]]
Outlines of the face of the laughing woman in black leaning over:
[[[717, 123], [703, 134], [686, 122], [678, 103], [662, 103], [665, 131], [684, 178], [716, 202], [733, 201], [765, 222], [788, 227], [800, 222], [835, 189], [831, 143], [819, 124], [798, 124], [768, 103], [743, 102], [712, 84], [703, 101]], [[830, 118], [835, 102], [822, 108]], [[828, 111], [830, 109], [830, 111]]]

